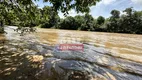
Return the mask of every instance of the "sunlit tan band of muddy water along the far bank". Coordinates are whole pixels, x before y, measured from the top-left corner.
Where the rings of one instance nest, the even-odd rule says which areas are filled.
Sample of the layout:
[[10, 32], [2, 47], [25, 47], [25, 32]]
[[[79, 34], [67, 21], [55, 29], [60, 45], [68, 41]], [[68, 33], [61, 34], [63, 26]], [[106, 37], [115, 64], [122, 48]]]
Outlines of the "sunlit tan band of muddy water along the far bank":
[[56, 29], [39, 29], [38, 32], [40, 33], [37, 35], [47, 43], [87, 43], [96, 47], [104, 47], [110, 50], [113, 56], [142, 62], [140, 56], [142, 55], [142, 35]]

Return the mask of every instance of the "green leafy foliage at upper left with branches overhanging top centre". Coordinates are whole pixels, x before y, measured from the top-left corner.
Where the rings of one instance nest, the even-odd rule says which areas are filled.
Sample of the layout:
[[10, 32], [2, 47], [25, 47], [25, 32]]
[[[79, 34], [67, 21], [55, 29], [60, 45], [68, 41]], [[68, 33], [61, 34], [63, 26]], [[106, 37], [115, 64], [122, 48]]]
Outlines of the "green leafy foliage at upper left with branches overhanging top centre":
[[90, 6], [96, 5], [100, 0], [43, 0], [49, 2], [52, 7], [39, 9], [33, 1], [40, 0], [0, 0], [0, 33], [4, 25], [16, 25], [18, 27], [50, 28], [58, 24], [58, 11], [65, 15], [75, 9], [77, 12], [88, 13]]

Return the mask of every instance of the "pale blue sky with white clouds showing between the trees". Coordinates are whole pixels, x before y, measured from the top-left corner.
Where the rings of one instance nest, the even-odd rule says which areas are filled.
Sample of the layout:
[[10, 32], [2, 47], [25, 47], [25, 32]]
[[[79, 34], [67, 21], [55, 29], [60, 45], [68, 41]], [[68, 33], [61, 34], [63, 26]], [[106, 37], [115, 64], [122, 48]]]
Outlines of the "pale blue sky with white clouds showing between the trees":
[[[38, 2], [34, 2], [37, 4], [40, 8], [43, 8], [44, 6], [52, 6], [49, 2], [43, 3], [42, 0], [39, 0]], [[105, 18], [108, 18], [111, 16], [110, 12], [114, 9], [119, 10], [121, 14], [123, 13], [123, 10], [125, 10], [128, 7], [133, 7], [135, 10], [142, 10], [142, 0], [101, 0], [98, 2], [95, 6], [90, 7], [90, 15], [92, 15], [94, 18], [97, 18], [99, 16], [103, 16]], [[70, 10], [68, 16], [76, 16], [76, 15], [83, 15], [82, 13], [76, 13], [75, 10]], [[64, 18], [63, 13], [59, 12], [59, 16], [61, 18]]]

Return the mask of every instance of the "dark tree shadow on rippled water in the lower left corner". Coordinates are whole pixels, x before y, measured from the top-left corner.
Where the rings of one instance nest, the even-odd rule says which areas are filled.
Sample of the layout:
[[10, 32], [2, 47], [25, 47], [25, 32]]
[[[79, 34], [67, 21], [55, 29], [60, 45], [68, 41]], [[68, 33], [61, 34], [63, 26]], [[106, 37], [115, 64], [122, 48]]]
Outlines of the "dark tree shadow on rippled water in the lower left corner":
[[39, 80], [41, 62], [33, 62], [22, 48], [8, 43], [0, 40], [0, 80]]

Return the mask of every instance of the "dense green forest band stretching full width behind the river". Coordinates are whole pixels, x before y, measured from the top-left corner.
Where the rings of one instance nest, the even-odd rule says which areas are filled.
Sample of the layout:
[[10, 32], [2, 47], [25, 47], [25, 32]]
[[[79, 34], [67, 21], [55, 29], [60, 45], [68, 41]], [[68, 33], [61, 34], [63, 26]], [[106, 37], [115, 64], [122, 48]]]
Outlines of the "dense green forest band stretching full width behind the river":
[[[21, 2], [22, 3], [22, 2]], [[32, 1], [22, 3], [20, 7], [10, 5], [6, 2], [1, 2], [0, 5], [0, 25], [15, 25], [18, 27], [41, 27], [41, 28], [56, 28], [68, 30], [84, 30], [84, 31], [103, 31], [103, 32], [117, 32], [117, 33], [134, 33], [142, 34], [142, 11], [136, 11], [133, 8], [126, 8], [120, 15], [120, 11], [112, 10], [109, 18], [99, 16], [94, 19], [89, 15], [89, 9], [77, 8], [77, 12], [87, 12], [85, 15], [77, 15], [75, 17], [66, 16], [68, 11], [72, 9], [62, 8], [66, 16], [62, 19], [58, 15], [58, 6], [45, 6], [38, 8]], [[7, 6], [8, 4], [8, 6]], [[26, 4], [26, 6], [25, 6]], [[7, 6], [7, 7], [5, 7]], [[77, 6], [77, 4], [76, 4]], [[87, 5], [88, 6], [88, 5]], [[0, 32], [3, 30], [0, 28]]]

